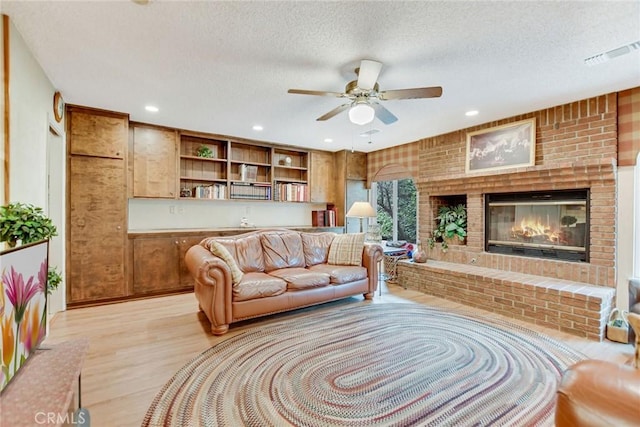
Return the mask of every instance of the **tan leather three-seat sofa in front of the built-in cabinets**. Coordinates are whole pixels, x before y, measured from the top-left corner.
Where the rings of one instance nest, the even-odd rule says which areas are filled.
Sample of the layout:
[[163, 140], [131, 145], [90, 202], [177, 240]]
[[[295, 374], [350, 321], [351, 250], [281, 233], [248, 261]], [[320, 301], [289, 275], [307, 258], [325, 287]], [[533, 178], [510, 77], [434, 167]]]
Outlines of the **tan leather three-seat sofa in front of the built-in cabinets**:
[[[234, 322], [358, 294], [373, 298], [382, 247], [364, 244], [359, 265], [329, 264], [337, 236], [343, 237], [336, 243], [347, 235], [262, 229], [207, 238], [189, 248], [185, 262], [195, 279], [200, 309], [211, 322], [211, 332], [222, 335]], [[231, 264], [235, 261], [242, 271], [241, 280], [232, 277], [233, 267], [213, 255], [210, 248], [214, 240], [231, 254]]]

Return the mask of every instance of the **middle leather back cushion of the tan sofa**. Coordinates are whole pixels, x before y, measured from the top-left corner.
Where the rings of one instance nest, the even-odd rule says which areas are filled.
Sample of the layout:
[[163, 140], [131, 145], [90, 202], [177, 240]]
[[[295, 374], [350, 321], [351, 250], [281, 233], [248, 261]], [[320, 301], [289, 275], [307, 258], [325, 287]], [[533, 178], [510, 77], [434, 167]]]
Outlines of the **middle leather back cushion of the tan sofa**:
[[304, 252], [300, 233], [266, 231], [260, 234], [267, 273], [287, 267], [304, 267]]

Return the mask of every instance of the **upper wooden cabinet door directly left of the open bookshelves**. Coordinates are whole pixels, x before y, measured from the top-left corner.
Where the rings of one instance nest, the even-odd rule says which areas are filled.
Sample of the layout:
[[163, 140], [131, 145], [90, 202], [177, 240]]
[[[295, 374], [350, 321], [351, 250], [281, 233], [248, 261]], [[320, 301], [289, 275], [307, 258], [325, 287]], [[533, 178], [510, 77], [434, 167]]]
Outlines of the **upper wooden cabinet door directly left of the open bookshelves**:
[[177, 144], [178, 135], [174, 130], [134, 126], [134, 197], [176, 197]]

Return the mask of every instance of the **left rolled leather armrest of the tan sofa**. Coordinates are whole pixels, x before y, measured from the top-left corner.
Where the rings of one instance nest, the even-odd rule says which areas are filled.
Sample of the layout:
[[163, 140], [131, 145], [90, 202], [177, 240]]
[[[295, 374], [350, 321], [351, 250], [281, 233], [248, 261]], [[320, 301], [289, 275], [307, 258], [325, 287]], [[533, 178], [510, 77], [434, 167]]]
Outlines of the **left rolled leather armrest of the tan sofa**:
[[224, 334], [233, 318], [233, 282], [229, 266], [201, 245], [190, 247], [184, 259], [195, 281], [194, 292], [200, 309], [211, 322], [211, 332]]

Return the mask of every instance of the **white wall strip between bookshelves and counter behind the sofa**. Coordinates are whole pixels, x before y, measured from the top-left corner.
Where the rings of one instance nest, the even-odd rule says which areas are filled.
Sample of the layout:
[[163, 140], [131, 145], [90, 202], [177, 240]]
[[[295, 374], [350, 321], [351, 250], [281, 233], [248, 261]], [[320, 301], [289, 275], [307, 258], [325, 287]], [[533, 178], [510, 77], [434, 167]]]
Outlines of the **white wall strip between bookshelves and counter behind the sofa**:
[[311, 227], [311, 211], [326, 207], [310, 203], [129, 199], [129, 231], [235, 228], [242, 217], [256, 227]]

